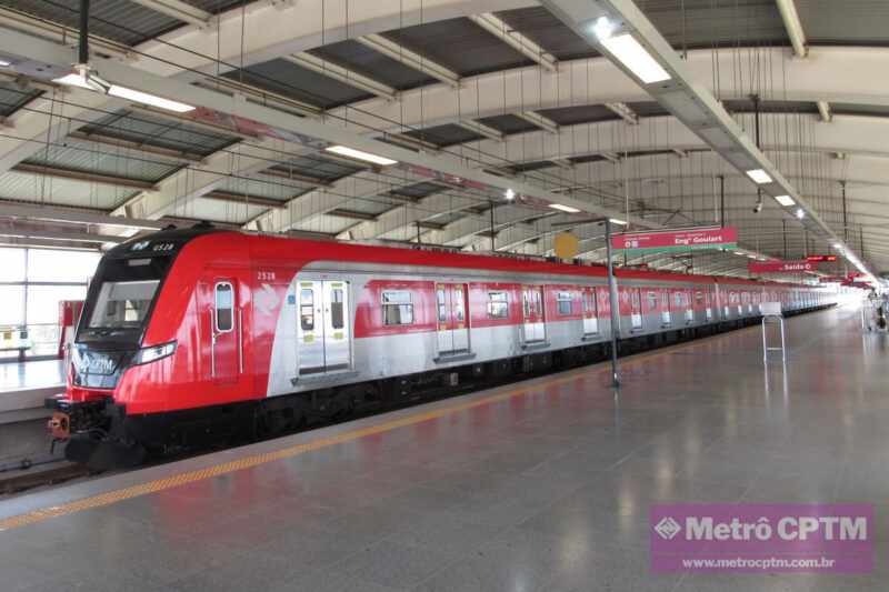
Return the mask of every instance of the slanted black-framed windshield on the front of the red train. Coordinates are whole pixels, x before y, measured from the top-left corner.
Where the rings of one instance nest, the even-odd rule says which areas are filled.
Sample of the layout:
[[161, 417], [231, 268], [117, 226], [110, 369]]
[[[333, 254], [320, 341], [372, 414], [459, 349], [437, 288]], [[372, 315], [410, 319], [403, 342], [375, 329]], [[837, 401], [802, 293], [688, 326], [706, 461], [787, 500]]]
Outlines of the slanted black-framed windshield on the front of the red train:
[[171, 259], [102, 260], [87, 294], [77, 341], [139, 343]]

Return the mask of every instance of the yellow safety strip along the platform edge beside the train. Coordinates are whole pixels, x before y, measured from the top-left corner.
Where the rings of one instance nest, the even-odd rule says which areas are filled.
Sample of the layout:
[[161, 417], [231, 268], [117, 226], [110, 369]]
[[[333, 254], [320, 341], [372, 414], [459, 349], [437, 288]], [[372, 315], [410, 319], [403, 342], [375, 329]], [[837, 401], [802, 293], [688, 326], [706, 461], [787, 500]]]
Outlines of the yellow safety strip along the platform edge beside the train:
[[[743, 328], [740, 331], [746, 331], [750, 329], [756, 329], [758, 325], [752, 325], [748, 328]], [[735, 331], [735, 333], [739, 333], [740, 331]], [[726, 334], [718, 334], [718, 335], [709, 335], [707, 338], [697, 339], [695, 341], [688, 343], [678, 343], [676, 345], [670, 345], [667, 348], [661, 348], [653, 352], [648, 353], [640, 353], [637, 355], [632, 355], [631, 358], [625, 359], [621, 363], [622, 365], [631, 365], [637, 364], [643, 360], [648, 360], [650, 358], [657, 358], [659, 355], [666, 355], [672, 351], [678, 349], [687, 349], [692, 347], [698, 347], [707, 341], [711, 341], [712, 339], [727, 337]], [[600, 373], [605, 370], [608, 370], [607, 365], [603, 363], [599, 363], [597, 365], [603, 367], [596, 369], [597, 373]], [[595, 367], [593, 367], [595, 368]], [[551, 379], [549, 381], [535, 384], [531, 387], [522, 387], [519, 389], [513, 389], [500, 394], [492, 394], [490, 397], [486, 397], [485, 399], [479, 399], [476, 401], [469, 401], [466, 403], [460, 403], [457, 405], [446, 407], [443, 409], [434, 410], [434, 411], [427, 411], [424, 413], [416, 413], [413, 415], [408, 415], [406, 418], [399, 420], [392, 420], [384, 423], [380, 423], [378, 425], [371, 425], [369, 428], [362, 428], [360, 430], [353, 430], [350, 432], [343, 432], [338, 435], [331, 435], [329, 438], [321, 438], [314, 440], [312, 442], [307, 442], [303, 444], [296, 444], [292, 446], [283, 448], [280, 450], [276, 450], [274, 452], [264, 452], [262, 454], [253, 454], [251, 456], [244, 456], [243, 459], [223, 462], [221, 464], [216, 464], [213, 466], [208, 466], [206, 469], [199, 469], [197, 471], [189, 471], [186, 473], [179, 473], [176, 475], [170, 475], [163, 479], [158, 479], [154, 481], [149, 481], [147, 483], [140, 483], [138, 485], [131, 485], [129, 488], [123, 488], [114, 491], [109, 491], [107, 493], [100, 493], [98, 495], [92, 495], [89, 498], [83, 498], [82, 500], [76, 500], [72, 502], [62, 503], [60, 505], [52, 505], [49, 508], [43, 508], [40, 510], [32, 510], [30, 512], [26, 512], [23, 514], [10, 516], [7, 519], [0, 520], [0, 532], [10, 529], [18, 529], [20, 526], [26, 526], [28, 524], [36, 524], [38, 522], [43, 522], [44, 520], [49, 520], [50, 518], [62, 516], [67, 514], [73, 514], [77, 512], [82, 512], [83, 510], [91, 510], [93, 508], [101, 508], [103, 505], [110, 505], [112, 503], [118, 503], [123, 500], [130, 500], [132, 498], [138, 498], [140, 495], [146, 495], [148, 493], [157, 493], [159, 491], [164, 491], [168, 489], [177, 488], [179, 485], [184, 485], [187, 483], [193, 483], [196, 481], [202, 481], [204, 479], [210, 479], [212, 476], [223, 475], [228, 473], [232, 473], [234, 471], [242, 471], [243, 469], [250, 469], [252, 466], [258, 466], [260, 464], [266, 464], [268, 462], [281, 460], [281, 459], [289, 459], [291, 456], [296, 456], [298, 454], [303, 454], [306, 452], [310, 452], [312, 450], [319, 450], [327, 446], [332, 446], [336, 444], [342, 444], [344, 442], [352, 442], [354, 440], [359, 440], [361, 438], [366, 438], [369, 435], [379, 434], [382, 432], [388, 432], [391, 430], [396, 430], [398, 428], [406, 428], [408, 425], [416, 425], [418, 423], [422, 423], [424, 421], [430, 421], [439, 418], [443, 418], [444, 415], [450, 415], [452, 413], [459, 413], [461, 411], [467, 411], [470, 409], [475, 409], [482, 405], [489, 405], [491, 403], [497, 403], [500, 401], [505, 401], [507, 399], [512, 399], [515, 397], [522, 397], [528, 394], [532, 390], [540, 390], [546, 389], [549, 387], [565, 384], [566, 382], [571, 382], [578, 380], [581, 375], [577, 373], [572, 373], [570, 377], [562, 377], [558, 379]]]

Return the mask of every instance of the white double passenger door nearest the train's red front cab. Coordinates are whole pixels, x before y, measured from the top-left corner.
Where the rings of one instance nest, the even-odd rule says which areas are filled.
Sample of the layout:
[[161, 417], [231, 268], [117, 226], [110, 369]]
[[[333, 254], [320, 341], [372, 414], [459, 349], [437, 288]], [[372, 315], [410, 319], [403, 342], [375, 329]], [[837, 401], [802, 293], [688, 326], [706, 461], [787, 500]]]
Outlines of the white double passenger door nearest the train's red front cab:
[[351, 368], [349, 282], [304, 280], [297, 290], [299, 373]]

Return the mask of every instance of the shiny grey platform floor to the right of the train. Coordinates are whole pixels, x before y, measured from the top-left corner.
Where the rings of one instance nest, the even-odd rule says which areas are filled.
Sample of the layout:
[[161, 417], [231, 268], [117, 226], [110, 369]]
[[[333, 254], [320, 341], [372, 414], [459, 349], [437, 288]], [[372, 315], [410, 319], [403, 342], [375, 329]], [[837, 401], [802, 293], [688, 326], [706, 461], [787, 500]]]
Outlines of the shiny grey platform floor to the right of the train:
[[[889, 337], [840, 308], [0, 502], [4, 591], [885, 590]], [[651, 574], [657, 502], [873, 503], [861, 575]]]

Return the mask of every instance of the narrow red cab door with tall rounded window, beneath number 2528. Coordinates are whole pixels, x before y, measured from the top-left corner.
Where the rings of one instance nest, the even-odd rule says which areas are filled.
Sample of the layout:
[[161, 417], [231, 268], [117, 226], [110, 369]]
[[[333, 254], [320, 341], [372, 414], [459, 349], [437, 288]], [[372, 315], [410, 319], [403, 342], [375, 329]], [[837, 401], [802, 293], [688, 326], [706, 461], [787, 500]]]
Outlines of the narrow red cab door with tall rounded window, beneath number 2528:
[[238, 281], [232, 274], [213, 270], [204, 285], [210, 379], [220, 384], [237, 382], [243, 371], [243, 317]]

